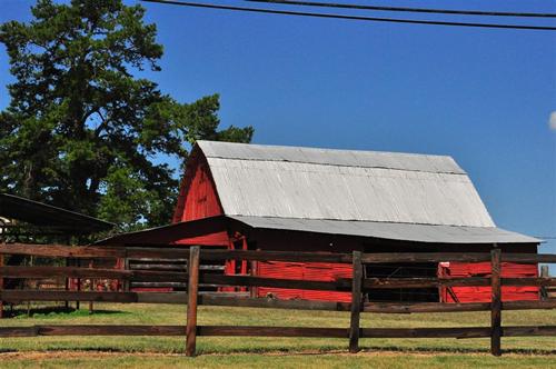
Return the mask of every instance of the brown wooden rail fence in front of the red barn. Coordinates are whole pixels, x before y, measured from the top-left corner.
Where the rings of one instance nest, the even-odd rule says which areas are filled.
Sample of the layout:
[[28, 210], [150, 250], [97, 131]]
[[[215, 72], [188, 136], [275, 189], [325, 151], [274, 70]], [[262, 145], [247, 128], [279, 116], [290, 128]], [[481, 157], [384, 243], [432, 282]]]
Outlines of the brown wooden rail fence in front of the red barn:
[[[187, 272], [116, 270], [79, 267], [11, 267], [1, 261], [6, 255], [63, 258], [156, 258], [187, 259]], [[290, 262], [339, 262], [353, 265], [353, 278], [335, 281], [309, 281], [262, 278], [256, 276], [200, 275], [200, 260], [250, 260]], [[364, 278], [364, 265], [393, 262], [483, 262], [492, 263], [490, 278]], [[556, 286], [556, 278], [502, 278], [503, 261], [538, 263], [556, 262], [556, 255], [502, 253], [495, 248], [490, 253], [308, 253], [286, 251], [208, 250], [199, 247], [67, 247], [40, 245], [0, 246], [0, 303], [1, 301], [102, 301], [143, 303], [187, 303], [187, 325], [183, 326], [33, 326], [0, 328], [0, 337], [32, 336], [186, 336], [186, 353], [195, 356], [197, 336], [262, 336], [262, 337], [325, 337], [349, 339], [349, 351], [359, 350], [360, 338], [490, 338], [490, 351], [502, 353], [500, 337], [556, 336], [556, 326], [502, 326], [502, 310], [554, 309], [555, 300], [502, 302], [502, 286]], [[41, 291], [2, 290], [2, 278], [111, 278], [123, 281], [179, 281], [187, 282], [187, 292], [99, 292], [99, 291]], [[246, 298], [226, 293], [201, 293], [199, 283], [216, 286], [272, 287], [306, 290], [351, 291], [351, 302], [277, 300], [269, 298]], [[369, 289], [430, 288], [454, 286], [490, 286], [492, 302], [443, 303], [443, 302], [365, 302], [361, 296]], [[278, 309], [349, 311], [348, 328], [312, 327], [252, 327], [252, 326], [198, 326], [199, 305], [234, 306]], [[0, 305], [1, 309], [1, 305]], [[0, 310], [1, 311], [1, 310]], [[361, 328], [361, 312], [410, 313], [448, 311], [490, 311], [489, 327], [456, 328]]]

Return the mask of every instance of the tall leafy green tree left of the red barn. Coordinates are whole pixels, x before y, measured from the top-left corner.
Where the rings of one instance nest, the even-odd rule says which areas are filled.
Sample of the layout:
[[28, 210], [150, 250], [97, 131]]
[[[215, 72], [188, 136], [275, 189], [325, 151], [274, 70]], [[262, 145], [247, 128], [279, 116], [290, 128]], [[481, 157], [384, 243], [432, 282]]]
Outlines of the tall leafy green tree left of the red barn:
[[145, 9], [121, 0], [39, 0], [29, 23], [0, 26], [16, 82], [0, 113], [0, 188], [118, 222], [169, 221], [178, 181], [161, 157], [218, 130], [219, 97], [178, 103], [133, 72], [159, 71], [162, 46]]

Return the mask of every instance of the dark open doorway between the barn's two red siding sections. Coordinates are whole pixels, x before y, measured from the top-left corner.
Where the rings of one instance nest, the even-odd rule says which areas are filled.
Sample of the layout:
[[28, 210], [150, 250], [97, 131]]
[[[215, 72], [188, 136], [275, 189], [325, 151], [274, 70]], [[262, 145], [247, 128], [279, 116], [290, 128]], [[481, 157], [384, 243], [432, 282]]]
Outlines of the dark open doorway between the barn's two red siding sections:
[[[436, 262], [367, 265], [367, 278], [419, 278], [436, 277]], [[438, 288], [374, 289], [367, 293], [369, 301], [389, 302], [438, 302]]]

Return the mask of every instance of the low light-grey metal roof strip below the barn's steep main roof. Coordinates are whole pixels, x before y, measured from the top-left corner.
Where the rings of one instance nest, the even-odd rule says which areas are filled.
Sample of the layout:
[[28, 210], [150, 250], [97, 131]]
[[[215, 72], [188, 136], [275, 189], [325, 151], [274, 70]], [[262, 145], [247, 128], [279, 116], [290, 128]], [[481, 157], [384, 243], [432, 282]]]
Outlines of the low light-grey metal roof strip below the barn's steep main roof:
[[453, 227], [377, 221], [228, 217], [249, 227], [434, 243], [538, 243], [540, 240], [496, 227]]

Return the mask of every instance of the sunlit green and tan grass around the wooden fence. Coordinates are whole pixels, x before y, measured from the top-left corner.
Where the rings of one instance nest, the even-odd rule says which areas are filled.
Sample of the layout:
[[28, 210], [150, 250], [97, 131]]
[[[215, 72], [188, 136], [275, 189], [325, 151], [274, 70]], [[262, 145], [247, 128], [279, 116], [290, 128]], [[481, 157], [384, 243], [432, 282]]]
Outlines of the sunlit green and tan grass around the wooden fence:
[[[186, 307], [176, 305], [96, 305], [100, 311], [42, 312], [0, 320], [0, 326], [185, 325]], [[363, 327], [488, 326], [488, 312], [364, 313]], [[199, 307], [199, 325], [348, 327], [349, 313]], [[555, 310], [504, 311], [506, 326], [554, 325]], [[503, 338], [503, 358], [488, 355], [488, 339], [361, 339], [359, 355], [346, 355], [347, 339], [199, 337], [196, 359], [186, 359], [182, 337], [36, 337], [0, 340], [2, 368], [53, 367], [543, 367], [556, 368], [556, 340]]]

